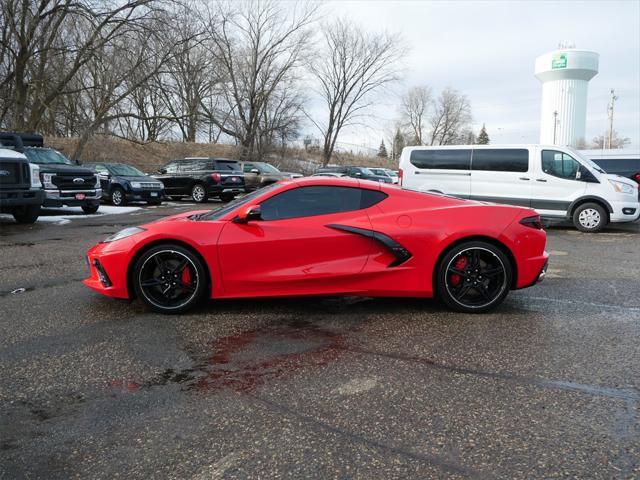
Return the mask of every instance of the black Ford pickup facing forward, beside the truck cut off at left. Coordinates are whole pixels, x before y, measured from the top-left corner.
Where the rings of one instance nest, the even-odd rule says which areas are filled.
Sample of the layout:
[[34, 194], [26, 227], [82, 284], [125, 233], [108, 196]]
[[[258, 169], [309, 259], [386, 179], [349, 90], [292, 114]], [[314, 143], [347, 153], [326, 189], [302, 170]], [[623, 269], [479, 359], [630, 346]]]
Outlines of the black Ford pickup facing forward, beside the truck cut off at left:
[[96, 213], [102, 190], [97, 175], [63, 154], [43, 146], [42, 135], [0, 132], [0, 142], [23, 153], [30, 163], [40, 167], [45, 207], [82, 207], [85, 213]]

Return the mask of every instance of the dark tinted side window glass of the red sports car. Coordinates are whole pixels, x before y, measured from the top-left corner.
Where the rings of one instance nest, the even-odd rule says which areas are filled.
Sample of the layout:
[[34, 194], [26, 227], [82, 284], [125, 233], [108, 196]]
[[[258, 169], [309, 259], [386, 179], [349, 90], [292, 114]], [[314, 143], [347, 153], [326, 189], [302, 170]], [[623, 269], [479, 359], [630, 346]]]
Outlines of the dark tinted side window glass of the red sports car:
[[362, 190], [353, 187], [298, 187], [261, 203], [263, 220], [313, 217], [359, 210]]

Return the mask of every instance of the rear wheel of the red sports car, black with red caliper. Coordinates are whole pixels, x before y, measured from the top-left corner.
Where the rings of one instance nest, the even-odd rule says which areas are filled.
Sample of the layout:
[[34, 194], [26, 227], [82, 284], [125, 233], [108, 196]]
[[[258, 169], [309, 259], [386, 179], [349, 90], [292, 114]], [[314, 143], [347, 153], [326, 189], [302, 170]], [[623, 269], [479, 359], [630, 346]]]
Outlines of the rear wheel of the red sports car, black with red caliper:
[[445, 305], [458, 312], [483, 313], [509, 294], [513, 269], [495, 245], [468, 241], [442, 257], [435, 277], [436, 294]]

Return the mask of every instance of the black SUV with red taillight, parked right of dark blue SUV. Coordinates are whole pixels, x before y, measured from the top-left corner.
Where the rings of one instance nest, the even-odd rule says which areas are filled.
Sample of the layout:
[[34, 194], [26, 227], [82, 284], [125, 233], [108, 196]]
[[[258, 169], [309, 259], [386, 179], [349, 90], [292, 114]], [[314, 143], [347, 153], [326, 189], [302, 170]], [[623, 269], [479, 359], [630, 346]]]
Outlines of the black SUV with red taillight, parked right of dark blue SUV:
[[172, 160], [153, 178], [164, 183], [172, 199], [191, 196], [196, 203], [219, 197], [230, 202], [244, 193], [244, 176], [240, 164], [225, 158], [184, 158]]

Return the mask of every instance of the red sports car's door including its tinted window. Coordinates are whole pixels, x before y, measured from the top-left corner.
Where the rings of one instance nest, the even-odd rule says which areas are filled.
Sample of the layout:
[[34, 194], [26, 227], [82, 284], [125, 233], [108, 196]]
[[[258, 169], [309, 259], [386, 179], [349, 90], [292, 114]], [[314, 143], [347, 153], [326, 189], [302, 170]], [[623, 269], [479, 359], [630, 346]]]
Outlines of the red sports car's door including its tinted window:
[[360, 201], [359, 188], [294, 186], [262, 202], [261, 220], [228, 222], [218, 240], [225, 295], [349, 291], [373, 243], [335, 225], [370, 230]]

